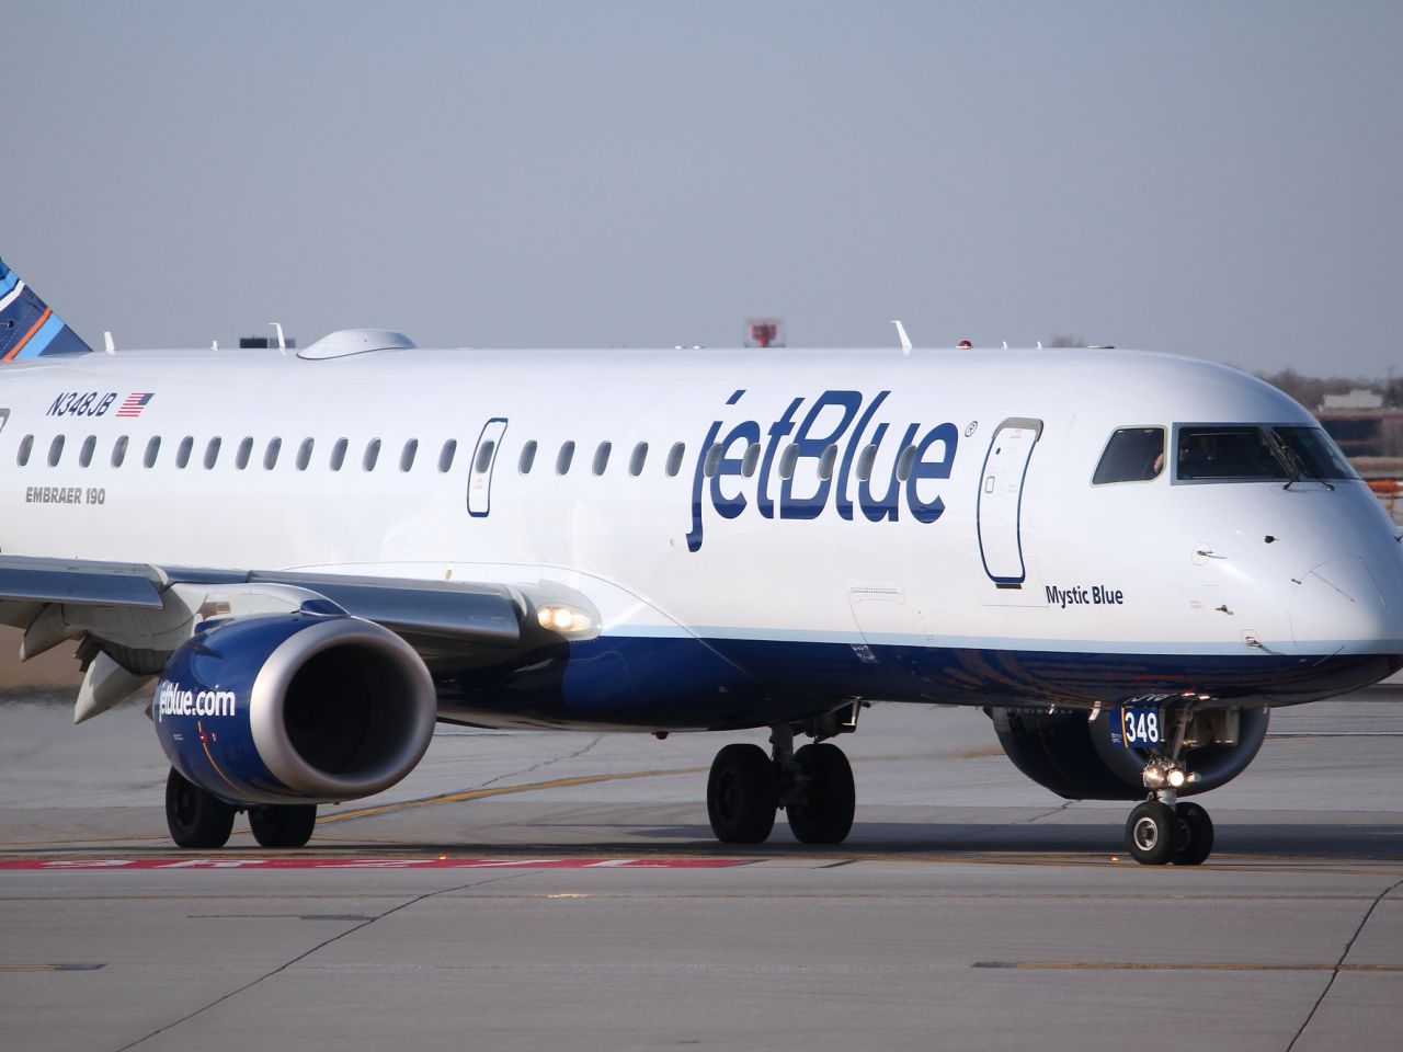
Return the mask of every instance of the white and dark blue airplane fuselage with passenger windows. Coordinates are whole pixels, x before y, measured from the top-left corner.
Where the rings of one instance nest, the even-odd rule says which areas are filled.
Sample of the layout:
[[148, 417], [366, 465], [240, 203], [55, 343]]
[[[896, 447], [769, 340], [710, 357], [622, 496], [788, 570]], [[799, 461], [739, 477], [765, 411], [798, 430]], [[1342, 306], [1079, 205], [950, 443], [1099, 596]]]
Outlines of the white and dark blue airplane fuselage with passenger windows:
[[[428, 658], [445, 718], [1250, 707], [1378, 680], [1403, 654], [1403, 547], [1362, 483], [1180, 474], [1184, 428], [1317, 428], [1187, 359], [123, 352], [17, 365], [0, 391], [4, 554], [593, 600], [593, 638]], [[1155, 428], [1170, 463], [1093, 483], [1113, 433]]]

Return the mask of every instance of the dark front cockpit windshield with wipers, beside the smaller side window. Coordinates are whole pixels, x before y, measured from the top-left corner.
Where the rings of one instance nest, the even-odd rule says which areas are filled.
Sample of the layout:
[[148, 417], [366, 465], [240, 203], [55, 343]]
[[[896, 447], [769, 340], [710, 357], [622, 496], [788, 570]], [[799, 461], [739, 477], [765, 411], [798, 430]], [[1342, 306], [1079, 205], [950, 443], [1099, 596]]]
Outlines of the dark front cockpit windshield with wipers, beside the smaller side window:
[[1184, 424], [1177, 432], [1181, 483], [1358, 478], [1320, 428]]

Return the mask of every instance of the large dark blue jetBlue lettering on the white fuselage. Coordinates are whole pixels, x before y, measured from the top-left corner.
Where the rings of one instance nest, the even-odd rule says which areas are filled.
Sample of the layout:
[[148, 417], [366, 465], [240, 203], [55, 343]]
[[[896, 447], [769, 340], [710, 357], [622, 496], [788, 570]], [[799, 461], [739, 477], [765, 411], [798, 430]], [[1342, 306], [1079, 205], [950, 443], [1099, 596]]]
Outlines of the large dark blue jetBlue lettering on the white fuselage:
[[[868, 522], [897, 522], [902, 505], [916, 522], [939, 519], [946, 502], [922, 484], [950, 478], [960, 431], [939, 424], [922, 433], [923, 424], [908, 424], [898, 436], [899, 425], [874, 422], [890, 394], [880, 391], [866, 405], [861, 391], [793, 398], [777, 419], [741, 421], [724, 438], [724, 421], [716, 421], [692, 480], [687, 550], [702, 548], [704, 502], [723, 519], [746, 509], [763, 519], [817, 519], [829, 505], [849, 520], [861, 513]], [[737, 391], [727, 405], [744, 396]]]

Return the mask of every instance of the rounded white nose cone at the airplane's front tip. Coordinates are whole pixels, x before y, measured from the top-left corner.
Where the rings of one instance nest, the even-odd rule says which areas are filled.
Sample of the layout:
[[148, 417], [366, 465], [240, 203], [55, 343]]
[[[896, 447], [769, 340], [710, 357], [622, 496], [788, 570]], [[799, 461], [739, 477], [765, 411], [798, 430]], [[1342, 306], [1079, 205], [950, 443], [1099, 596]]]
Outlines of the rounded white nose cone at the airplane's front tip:
[[1397, 576], [1390, 575], [1389, 588], [1381, 589], [1361, 558], [1322, 562], [1306, 574], [1291, 602], [1291, 631], [1299, 651], [1403, 652], [1403, 589], [1392, 579]]

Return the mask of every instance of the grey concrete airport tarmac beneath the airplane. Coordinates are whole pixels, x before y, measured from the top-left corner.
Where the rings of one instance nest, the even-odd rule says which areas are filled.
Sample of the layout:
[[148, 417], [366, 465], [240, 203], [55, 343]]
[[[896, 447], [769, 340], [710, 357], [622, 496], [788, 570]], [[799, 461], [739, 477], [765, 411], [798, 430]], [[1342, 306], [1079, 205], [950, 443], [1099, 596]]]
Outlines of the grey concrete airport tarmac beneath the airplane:
[[0, 703], [0, 1049], [1403, 1048], [1403, 686], [1281, 710], [1149, 868], [972, 710], [842, 741], [832, 849], [710, 837], [762, 734], [443, 728], [306, 850], [192, 856], [139, 707]]

